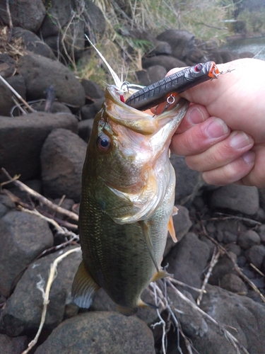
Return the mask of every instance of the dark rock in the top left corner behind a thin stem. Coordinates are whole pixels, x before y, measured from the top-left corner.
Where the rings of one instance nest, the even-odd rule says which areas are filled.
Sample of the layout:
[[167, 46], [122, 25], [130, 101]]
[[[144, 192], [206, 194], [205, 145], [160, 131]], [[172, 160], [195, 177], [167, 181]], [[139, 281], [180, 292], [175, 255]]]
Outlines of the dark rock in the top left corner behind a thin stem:
[[[25, 28], [37, 32], [45, 18], [45, 6], [42, 0], [25, 1], [16, 0], [9, 2], [13, 26]], [[9, 25], [6, 2], [0, 2], [0, 18], [5, 25]]]

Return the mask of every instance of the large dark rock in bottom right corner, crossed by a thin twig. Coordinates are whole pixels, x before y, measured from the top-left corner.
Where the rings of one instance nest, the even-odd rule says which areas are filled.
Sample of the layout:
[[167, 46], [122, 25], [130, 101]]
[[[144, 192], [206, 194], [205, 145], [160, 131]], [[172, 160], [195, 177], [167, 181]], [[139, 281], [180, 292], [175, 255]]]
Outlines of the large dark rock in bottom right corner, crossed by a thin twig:
[[[250, 354], [263, 354], [265, 343], [265, 307], [248, 297], [208, 285], [201, 302], [201, 309], [224, 324]], [[235, 330], [233, 330], [235, 329]], [[209, 325], [204, 336], [192, 337], [194, 348], [204, 354], [234, 354], [235, 348], [225, 338], [218, 326]]]

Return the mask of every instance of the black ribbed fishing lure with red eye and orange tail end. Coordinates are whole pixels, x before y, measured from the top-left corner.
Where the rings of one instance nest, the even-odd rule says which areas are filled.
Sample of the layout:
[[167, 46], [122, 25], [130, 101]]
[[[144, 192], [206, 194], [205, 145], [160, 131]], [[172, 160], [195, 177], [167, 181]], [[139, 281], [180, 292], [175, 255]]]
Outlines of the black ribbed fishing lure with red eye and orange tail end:
[[204, 81], [217, 79], [219, 74], [221, 73], [215, 62], [196, 64], [194, 67], [188, 67], [144, 87], [131, 95], [125, 103], [138, 110], [147, 110], [164, 101], [170, 105], [175, 102], [175, 96], [178, 93], [191, 89]]

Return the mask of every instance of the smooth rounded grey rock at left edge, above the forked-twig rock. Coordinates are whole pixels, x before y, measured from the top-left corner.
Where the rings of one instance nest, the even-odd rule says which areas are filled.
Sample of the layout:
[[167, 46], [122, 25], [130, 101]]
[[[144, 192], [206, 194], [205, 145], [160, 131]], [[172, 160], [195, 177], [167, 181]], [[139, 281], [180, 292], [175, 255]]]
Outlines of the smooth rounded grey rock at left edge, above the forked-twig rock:
[[8, 296], [21, 272], [53, 246], [53, 235], [40, 217], [11, 211], [0, 219], [0, 239], [0, 292]]

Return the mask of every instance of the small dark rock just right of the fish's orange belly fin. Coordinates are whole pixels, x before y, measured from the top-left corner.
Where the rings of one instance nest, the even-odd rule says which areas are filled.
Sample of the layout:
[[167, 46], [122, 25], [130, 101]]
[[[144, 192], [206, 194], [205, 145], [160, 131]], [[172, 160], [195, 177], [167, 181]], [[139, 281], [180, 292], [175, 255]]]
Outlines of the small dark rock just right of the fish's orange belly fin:
[[[186, 207], [182, 207], [182, 205], [177, 206], [177, 215], [173, 216], [174, 229], [177, 237], [177, 241], [180, 241], [182, 237], [187, 234], [190, 227], [192, 226], [192, 222], [189, 219], [189, 210]], [[167, 244], [165, 246], [164, 257], [167, 253], [175, 246], [175, 242], [172, 240], [170, 235], [167, 236]]]

